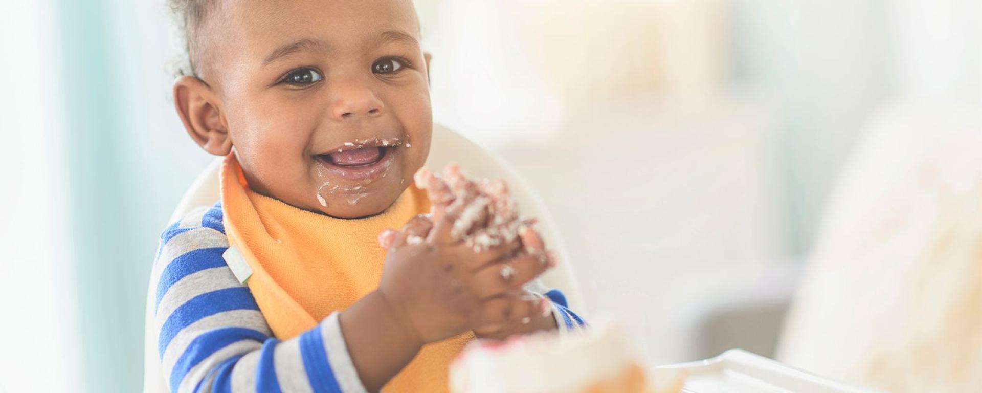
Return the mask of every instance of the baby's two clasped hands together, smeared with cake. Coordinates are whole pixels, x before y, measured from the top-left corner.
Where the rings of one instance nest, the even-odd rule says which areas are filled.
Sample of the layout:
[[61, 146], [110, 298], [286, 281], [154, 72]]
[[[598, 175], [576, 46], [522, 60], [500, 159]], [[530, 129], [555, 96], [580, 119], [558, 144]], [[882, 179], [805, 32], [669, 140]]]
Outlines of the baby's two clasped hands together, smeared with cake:
[[555, 328], [548, 299], [522, 286], [556, 264], [534, 220], [520, 221], [503, 181], [475, 182], [456, 165], [421, 169], [431, 214], [386, 230], [379, 293], [422, 343], [467, 330], [482, 337]]

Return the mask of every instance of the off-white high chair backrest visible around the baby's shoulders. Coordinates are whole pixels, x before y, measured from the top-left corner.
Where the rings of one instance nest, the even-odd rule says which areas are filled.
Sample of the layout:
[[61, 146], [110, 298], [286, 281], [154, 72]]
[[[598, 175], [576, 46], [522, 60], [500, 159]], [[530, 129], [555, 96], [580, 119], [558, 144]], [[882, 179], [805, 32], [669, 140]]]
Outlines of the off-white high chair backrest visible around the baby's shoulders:
[[[222, 159], [217, 158], [204, 168], [204, 171], [191, 184], [188, 192], [181, 198], [181, 202], [178, 203], [178, 207], [174, 210], [169, 222], [181, 219], [196, 207], [210, 206], [219, 199], [218, 172], [221, 162]], [[537, 218], [539, 224], [536, 225], [536, 228], [541, 232], [546, 244], [559, 253], [560, 264], [542, 275], [542, 283], [547, 288], [563, 291], [571, 308], [581, 309], [582, 302], [580, 302], [579, 289], [573, 278], [573, 268], [569, 263], [570, 259], [566, 247], [560, 239], [559, 232], [556, 230], [545, 205], [535, 196], [532, 189], [518, 177], [518, 174], [503, 158], [494, 152], [467, 140], [454, 131], [434, 125], [433, 141], [424, 166], [437, 172], [451, 162], [460, 164], [469, 175], [504, 179], [508, 182], [512, 196], [516, 198], [521, 208], [522, 216]], [[143, 392], [166, 393], [168, 392], [168, 385], [164, 380], [160, 357], [157, 354], [157, 332], [154, 329], [153, 314], [155, 297], [149, 292], [152, 288], [153, 283], [150, 283], [146, 296], [145, 330], [143, 334]]]

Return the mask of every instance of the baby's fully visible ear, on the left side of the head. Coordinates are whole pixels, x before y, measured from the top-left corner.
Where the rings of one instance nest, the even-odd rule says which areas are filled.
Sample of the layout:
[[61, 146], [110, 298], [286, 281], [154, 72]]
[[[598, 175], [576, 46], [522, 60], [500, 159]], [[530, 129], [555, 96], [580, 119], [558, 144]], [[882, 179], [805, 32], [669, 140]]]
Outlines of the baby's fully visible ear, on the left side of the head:
[[221, 99], [201, 80], [184, 76], [174, 81], [174, 105], [191, 140], [204, 151], [227, 155], [232, 139], [221, 114]]

